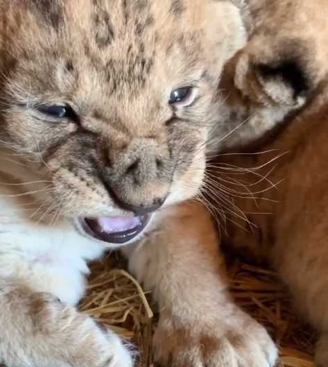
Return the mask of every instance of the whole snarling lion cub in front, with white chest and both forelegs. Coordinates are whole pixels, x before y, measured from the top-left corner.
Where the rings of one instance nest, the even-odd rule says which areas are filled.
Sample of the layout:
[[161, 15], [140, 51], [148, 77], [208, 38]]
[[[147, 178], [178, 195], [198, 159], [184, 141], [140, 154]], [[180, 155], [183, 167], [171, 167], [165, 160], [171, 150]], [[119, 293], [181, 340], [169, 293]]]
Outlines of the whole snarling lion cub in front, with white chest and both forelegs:
[[0, 1], [0, 363], [132, 366], [74, 307], [87, 262], [121, 248], [159, 302], [158, 361], [273, 366], [227, 293], [209, 213], [183, 204], [243, 18], [242, 1]]

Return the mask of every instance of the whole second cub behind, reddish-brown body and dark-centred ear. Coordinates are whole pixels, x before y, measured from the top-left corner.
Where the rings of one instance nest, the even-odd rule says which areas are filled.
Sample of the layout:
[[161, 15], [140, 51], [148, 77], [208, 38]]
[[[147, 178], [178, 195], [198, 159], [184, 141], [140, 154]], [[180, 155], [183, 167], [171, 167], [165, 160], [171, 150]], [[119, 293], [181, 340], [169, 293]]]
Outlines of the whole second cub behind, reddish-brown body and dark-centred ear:
[[[209, 164], [207, 188], [224, 218], [223, 244], [279, 271], [295, 307], [319, 332], [316, 364], [326, 367], [328, 4], [270, 1], [255, 12], [259, 3], [250, 1], [250, 42], [225, 69], [230, 149]], [[277, 69], [266, 78], [258, 67], [282, 71], [286, 61], [286, 78]]]

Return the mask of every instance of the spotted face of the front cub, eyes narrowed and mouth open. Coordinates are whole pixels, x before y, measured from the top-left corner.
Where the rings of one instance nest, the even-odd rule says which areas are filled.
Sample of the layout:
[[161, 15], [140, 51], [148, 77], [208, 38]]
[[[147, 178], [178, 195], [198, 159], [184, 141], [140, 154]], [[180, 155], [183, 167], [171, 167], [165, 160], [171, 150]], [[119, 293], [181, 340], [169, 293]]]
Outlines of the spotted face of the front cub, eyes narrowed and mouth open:
[[62, 215], [122, 244], [196, 194], [223, 64], [245, 42], [235, 6], [6, 0], [0, 12], [3, 142], [48, 176]]

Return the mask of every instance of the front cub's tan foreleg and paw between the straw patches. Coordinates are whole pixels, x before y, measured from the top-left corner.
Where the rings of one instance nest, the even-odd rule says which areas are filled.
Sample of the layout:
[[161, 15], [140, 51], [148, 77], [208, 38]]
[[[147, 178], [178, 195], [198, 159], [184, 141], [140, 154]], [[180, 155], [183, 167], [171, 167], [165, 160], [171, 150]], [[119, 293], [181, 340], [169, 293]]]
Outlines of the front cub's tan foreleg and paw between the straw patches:
[[160, 230], [124, 250], [130, 270], [159, 303], [157, 359], [175, 367], [273, 366], [275, 344], [228, 294], [205, 207], [191, 202], [162, 213]]

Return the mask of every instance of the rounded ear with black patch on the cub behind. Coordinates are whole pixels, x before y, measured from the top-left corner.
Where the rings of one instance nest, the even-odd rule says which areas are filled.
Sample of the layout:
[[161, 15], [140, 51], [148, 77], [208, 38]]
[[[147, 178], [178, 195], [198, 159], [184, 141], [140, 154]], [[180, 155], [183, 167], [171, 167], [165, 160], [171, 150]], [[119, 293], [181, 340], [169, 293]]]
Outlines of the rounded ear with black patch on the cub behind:
[[235, 58], [234, 84], [243, 96], [266, 106], [302, 106], [318, 84], [310, 42], [254, 35]]

